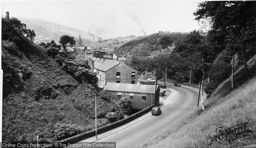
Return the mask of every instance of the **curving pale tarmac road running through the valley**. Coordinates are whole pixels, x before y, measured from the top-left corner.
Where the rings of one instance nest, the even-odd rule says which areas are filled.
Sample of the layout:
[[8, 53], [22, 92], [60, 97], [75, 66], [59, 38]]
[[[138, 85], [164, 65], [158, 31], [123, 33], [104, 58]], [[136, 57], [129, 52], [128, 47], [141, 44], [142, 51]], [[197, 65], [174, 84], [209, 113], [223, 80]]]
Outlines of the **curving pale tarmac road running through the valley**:
[[191, 110], [197, 108], [198, 89], [184, 85], [176, 87], [172, 83], [168, 83], [167, 87], [172, 93], [162, 101], [166, 106], [159, 116], [152, 116], [149, 112], [119, 128], [99, 134], [98, 140], [90, 137], [81, 142], [116, 142], [116, 148], [134, 148], [147, 141], [154, 141], [165, 131], [179, 126]]

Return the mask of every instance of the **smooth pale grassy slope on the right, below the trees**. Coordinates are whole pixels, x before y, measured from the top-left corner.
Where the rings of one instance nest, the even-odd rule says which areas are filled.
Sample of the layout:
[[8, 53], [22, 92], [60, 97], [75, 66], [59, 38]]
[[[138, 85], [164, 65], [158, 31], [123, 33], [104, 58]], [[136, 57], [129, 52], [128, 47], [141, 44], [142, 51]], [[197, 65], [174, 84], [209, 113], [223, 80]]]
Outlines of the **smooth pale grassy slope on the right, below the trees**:
[[[256, 144], [256, 55], [247, 63], [251, 75], [246, 80], [243, 66], [236, 71], [235, 89], [231, 90], [230, 78], [221, 83], [212, 96], [206, 100], [205, 111], [192, 111], [176, 128], [161, 134], [154, 142], [139, 147], [145, 148], [233, 148]], [[248, 139], [229, 142], [216, 141], [216, 129], [226, 125], [232, 127], [248, 122]], [[229, 145], [227, 145], [229, 144]]]

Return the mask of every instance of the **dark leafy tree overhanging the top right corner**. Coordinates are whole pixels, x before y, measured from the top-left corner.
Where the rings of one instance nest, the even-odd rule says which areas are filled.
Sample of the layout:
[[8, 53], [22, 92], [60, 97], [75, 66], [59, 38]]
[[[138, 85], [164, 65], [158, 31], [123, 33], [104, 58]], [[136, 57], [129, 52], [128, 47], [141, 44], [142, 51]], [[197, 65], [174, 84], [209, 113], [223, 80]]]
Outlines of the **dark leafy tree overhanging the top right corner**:
[[[256, 1], [206, 1], [199, 3], [199, 9], [194, 13], [196, 20], [201, 18], [211, 18], [213, 30], [224, 31], [232, 29], [243, 46], [241, 49], [243, 54], [244, 69], [247, 79], [250, 74], [247, 68], [246, 48], [248, 40], [254, 38], [256, 20]], [[255, 24], [254, 24], [255, 25]], [[228, 32], [227, 32], [228, 33]], [[248, 36], [248, 34], [250, 34]]]

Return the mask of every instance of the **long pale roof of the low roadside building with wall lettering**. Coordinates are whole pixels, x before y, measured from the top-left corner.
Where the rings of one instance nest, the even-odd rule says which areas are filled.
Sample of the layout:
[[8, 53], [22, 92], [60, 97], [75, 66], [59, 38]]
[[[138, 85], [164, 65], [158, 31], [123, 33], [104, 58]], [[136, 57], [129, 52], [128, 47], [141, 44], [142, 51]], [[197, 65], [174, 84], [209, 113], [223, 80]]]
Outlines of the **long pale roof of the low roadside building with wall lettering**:
[[[157, 85], [158, 87], [158, 85]], [[107, 83], [105, 91], [120, 91], [120, 92], [134, 92], [155, 94], [155, 85], [138, 85], [127, 83]]]

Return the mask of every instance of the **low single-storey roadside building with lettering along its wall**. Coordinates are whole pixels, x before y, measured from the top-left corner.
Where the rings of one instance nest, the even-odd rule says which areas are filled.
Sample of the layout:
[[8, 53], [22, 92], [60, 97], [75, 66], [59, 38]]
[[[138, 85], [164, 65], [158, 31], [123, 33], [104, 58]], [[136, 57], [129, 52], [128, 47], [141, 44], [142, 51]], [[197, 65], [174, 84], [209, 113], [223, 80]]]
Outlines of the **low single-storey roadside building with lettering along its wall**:
[[[108, 83], [104, 89], [111, 97], [118, 100], [122, 97], [129, 97], [132, 108], [142, 110], [150, 105], [159, 105], [160, 88], [157, 85], [138, 85], [125, 83]], [[155, 100], [156, 99], [156, 100]]]

